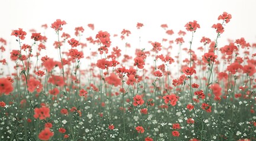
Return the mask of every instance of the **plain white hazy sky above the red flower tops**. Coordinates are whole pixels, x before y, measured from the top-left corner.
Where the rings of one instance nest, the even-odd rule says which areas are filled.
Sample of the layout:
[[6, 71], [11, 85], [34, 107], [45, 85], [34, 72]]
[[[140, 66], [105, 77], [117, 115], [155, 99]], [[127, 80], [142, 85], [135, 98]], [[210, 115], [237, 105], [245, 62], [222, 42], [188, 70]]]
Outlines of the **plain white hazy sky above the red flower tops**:
[[[50, 26], [56, 19], [61, 19], [67, 22], [67, 25], [63, 26], [63, 32], [69, 33], [72, 38], [76, 38], [74, 28], [77, 26], [85, 28], [83, 39], [81, 39], [83, 41], [89, 36], [95, 38], [95, 33], [101, 30], [108, 31], [112, 36], [115, 33], [120, 35], [122, 29], [128, 29], [131, 31], [131, 37], [127, 37], [127, 42], [131, 43], [132, 47], [138, 46], [138, 36], [141, 36], [141, 48], [151, 48], [148, 41], [161, 42], [162, 38], [175, 40], [177, 32], [186, 31], [184, 25], [187, 22], [196, 20], [200, 24], [200, 29], [197, 29], [195, 33], [192, 46], [197, 48], [202, 46], [199, 42], [202, 36], [212, 40], [216, 38], [216, 31], [211, 26], [221, 22], [218, 21], [219, 15], [228, 12], [232, 15], [232, 19], [224, 26], [225, 32], [219, 39], [219, 47], [226, 45], [227, 39], [235, 40], [241, 37], [244, 37], [249, 43], [255, 43], [255, 6], [255, 0], [1, 0], [0, 38], [11, 43], [11, 49], [18, 49], [18, 43], [15, 42], [17, 38], [10, 36], [12, 30], [22, 28], [26, 31], [28, 34], [24, 43], [30, 45], [32, 41], [29, 30], [35, 29], [37, 32], [41, 32], [43, 30], [41, 25], [47, 24], [46, 36], [50, 42], [47, 48], [51, 48], [57, 37]], [[144, 24], [140, 31], [136, 28], [137, 22]], [[88, 28], [88, 24], [94, 24], [95, 31], [92, 32]], [[161, 24], [167, 24], [168, 29], [173, 29], [176, 38], [166, 35], [164, 29], [160, 27]], [[187, 32], [185, 42], [189, 42], [190, 35], [191, 33]], [[7, 56], [9, 58], [9, 53]]]

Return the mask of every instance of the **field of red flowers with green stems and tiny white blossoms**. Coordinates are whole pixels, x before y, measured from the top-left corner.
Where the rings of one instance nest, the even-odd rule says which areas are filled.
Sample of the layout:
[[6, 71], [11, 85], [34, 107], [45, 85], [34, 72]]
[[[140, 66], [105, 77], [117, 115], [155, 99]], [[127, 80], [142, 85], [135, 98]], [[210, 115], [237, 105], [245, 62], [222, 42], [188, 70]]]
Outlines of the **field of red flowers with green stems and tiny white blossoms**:
[[88, 35], [65, 32], [68, 22], [13, 29], [12, 45], [0, 37], [0, 140], [256, 140], [256, 43], [218, 45], [228, 12], [209, 27], [214, 39], [193, 40], [195, 19], [160, 25], [175, 37], [147, 46], [128, 43], [125, 27], [88, 24]]

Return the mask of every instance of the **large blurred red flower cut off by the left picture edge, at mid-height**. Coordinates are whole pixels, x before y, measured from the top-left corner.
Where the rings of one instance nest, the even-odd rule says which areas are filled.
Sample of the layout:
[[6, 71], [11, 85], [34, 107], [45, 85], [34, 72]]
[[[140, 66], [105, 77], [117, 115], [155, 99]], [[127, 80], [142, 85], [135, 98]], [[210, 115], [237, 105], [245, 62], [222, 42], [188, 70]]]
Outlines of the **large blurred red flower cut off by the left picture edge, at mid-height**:
[[5, 93], [5, 95], [9, 95], [9, 93], [14, 90], [12, 83], [6, 78], [0, 78], [0, 96]]

